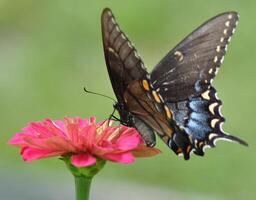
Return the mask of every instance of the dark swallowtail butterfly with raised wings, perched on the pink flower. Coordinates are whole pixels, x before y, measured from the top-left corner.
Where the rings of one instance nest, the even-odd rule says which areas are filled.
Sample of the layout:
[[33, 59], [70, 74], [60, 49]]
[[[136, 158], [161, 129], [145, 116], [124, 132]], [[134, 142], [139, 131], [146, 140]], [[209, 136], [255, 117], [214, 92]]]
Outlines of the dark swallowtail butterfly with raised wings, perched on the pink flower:
[[245, 141], [223, 132], [222, 102], [211, 84], [237, 22], [236, 12], [213, 17], [148, 73], [111, 10], [104, 9], [103, 49], [120, 122], [136, 128], [151, 147], [156, 144], [157, 133], [185, 160], [191, 152], [203, 156], [205, 147], [215, 147], [219, 139], [247, 146]]

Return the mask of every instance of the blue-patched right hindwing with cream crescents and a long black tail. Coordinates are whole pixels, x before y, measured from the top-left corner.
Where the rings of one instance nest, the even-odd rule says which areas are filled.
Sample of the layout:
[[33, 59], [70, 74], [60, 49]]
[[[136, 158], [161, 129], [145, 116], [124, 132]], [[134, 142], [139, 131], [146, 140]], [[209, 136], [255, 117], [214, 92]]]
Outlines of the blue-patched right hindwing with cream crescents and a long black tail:
[[199, 96], [167, 105], [173, 111], [177, 125], [191, 138], [196, 154], [203, 155], [204, 147], [214, 147], [217, 140], [236, 141], [246, 145], [241, 139], [223, 132], [222, 123], [225, 119], [220, 113], [222, 102], [217, 98], [213, 87]]

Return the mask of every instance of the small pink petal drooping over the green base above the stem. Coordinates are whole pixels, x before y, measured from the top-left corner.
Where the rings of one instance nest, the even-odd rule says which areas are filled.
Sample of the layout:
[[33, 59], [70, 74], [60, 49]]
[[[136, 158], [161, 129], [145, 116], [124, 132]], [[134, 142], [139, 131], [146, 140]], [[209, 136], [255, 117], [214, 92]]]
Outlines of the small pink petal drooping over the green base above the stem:
[[96, 163], [96, 158], [88, 153], [81, 153], [71, 156], [71, 163], [76, 167], [87, 167]]

